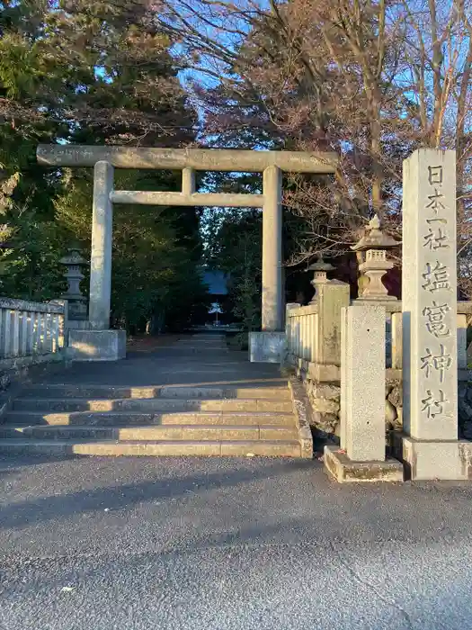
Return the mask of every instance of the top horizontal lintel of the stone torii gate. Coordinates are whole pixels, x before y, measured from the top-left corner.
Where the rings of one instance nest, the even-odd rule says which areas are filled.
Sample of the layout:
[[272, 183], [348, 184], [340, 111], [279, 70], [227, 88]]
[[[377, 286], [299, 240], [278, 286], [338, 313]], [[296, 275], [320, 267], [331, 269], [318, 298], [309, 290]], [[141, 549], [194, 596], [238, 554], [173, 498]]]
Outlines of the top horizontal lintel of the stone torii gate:
[[116, 168], [262, 173], [277, 166], [290, 173], [334, 173], [335, 153], [256, 151], [232, 148], [146, 148], [40, 144], [38, 162], [44, 166], [94, 166], [109, 162]]

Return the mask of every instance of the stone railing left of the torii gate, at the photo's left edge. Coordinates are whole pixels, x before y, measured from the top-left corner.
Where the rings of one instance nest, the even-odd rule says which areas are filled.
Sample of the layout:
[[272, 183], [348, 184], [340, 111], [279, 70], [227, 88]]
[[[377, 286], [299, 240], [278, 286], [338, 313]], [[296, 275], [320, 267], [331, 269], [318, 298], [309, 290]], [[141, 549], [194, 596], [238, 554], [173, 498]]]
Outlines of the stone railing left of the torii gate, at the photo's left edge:
[[0, 298], [0, 367], [55, 360], [65, 347], [66, 302]]

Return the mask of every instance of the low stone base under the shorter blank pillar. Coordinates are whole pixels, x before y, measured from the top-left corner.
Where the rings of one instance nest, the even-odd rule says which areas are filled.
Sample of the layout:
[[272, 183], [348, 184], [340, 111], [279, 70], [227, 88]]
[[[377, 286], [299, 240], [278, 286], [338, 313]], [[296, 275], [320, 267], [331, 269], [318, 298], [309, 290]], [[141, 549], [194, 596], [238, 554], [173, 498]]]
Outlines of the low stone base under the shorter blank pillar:
[[338, 446], [325, 446], [325, 469], [336, 482], [403, 482], [403, 464], [387, 457], [385, 462], [353, 462]]

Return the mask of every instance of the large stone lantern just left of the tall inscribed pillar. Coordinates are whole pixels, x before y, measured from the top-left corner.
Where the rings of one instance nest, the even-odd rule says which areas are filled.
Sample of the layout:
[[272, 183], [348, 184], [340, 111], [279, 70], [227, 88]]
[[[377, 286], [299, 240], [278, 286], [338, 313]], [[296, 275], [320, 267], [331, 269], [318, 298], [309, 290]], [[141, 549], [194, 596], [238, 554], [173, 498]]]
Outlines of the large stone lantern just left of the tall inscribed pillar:
[[363, 289], [358, 300], [396, 300], [394, 295], [388, 295], [382, 278], [392, 269], [394, 264], [387, 260], [387, 250], [397, 247], [395, 238], [388, 236], [380, 227], [377, 214], [369, 222], [369, 227], [361, 240], [351, 249], [355, 252], [365, 251], [365, 262], [359, 266], [362, 275], [369, 278], [369, 284]]

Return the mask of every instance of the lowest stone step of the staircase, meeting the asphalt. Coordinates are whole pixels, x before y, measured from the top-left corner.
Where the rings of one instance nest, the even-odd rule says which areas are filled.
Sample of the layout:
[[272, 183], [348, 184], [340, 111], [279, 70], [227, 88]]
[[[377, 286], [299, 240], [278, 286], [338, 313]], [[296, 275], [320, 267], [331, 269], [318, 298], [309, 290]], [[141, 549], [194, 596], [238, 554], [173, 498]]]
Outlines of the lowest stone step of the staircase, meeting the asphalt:
[[247, 457], [301, 457], [298, 440], [227, 440], [227, 441], [94, 441], [0, 440], [2, 455], [215, 455]]

